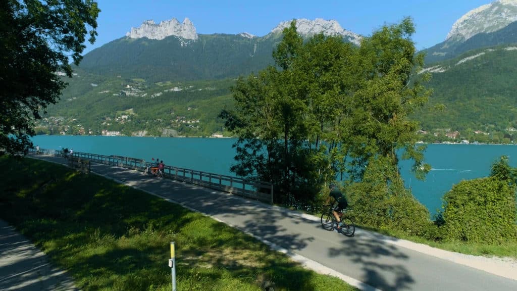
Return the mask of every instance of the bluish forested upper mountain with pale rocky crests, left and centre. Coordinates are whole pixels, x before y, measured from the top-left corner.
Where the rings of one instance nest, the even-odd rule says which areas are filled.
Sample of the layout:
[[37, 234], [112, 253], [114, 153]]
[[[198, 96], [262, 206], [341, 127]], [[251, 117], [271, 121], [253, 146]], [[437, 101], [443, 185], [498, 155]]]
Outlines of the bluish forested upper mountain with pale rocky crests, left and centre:
[[[80, 67], [91, 74], [153, 82], [234, 78], [273, 64], [271, 53], [288, 25], [290, 21], [282, 22], [269, 34], [256, 37], [248, 33], [197, 34], [188, 19], [183, 24], [176, 19], [159, 24], [145, 21], [132, 27], [126, 37], [87, 53]], [[323, 32], [354, 43], [361, 38], [334, 20], [298, 19], [297, 29], [306, 37]]]

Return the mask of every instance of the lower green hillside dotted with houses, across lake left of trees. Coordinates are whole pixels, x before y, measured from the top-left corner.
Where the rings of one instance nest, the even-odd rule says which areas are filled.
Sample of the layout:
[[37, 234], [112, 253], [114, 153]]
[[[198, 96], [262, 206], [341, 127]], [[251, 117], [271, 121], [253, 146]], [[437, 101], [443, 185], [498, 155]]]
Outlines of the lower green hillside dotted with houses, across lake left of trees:
[[84, 134], [91, 129], [94, 135], [105, 129], [128, 136], [144, 130], [154, 136], [211, 136], [224, 130], [217, 119], [220, 108], [233, 107], [229, 89], [233, 80], [155, 84], [99, 77], [81, 69], [75, 74], [62, 101], [49, 106], [39, 127], [54, 134], [65, 129], [67, 134], [78, 134], [83, 128]]

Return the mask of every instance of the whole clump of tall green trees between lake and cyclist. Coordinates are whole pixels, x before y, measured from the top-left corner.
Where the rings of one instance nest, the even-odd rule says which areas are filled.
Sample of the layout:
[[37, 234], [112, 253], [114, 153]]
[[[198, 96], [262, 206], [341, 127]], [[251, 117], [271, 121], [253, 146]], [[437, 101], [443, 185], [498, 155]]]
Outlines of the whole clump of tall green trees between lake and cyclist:
[[277, 67], [240, 78], [235, 109], [220, 114], [239, 136], [232, 171], [271, 181], [276, 201], [302, 201], [305, 209], [325, 183], [346, 174], [359, 221], [427, 231], [429, 212], [404, 189], [398, 169], [401, 149], [418, 178], [430, 169], [416, 146], [418, 123], [408, 118], [430, 94], [422, 85], [429, 75], [410, 79], [423, 65], [412, 33], [405, 19], [358, 48], [322, 34], [303, 42], [293, 21], [273, 51]]

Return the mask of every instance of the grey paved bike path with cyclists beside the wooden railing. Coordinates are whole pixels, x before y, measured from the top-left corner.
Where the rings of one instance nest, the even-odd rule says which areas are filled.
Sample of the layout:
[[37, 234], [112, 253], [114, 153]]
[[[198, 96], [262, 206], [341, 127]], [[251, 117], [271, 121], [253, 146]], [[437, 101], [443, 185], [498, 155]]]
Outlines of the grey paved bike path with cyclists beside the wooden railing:
[[[64, 163], [59, 157], [39, 156]], [[372, 290], [517, 290], [515, 270], [482, 271], [483, 266], [454, 263], [468, 256], [436, 250], [429, 255], [417, 245], [356, 229], [352, 238], [326, 231], [311, 215], [266, 205], [235, 195], [169, 179], [150, 179], [141, 172], [92, 164], [92, 170], [129, 186], [203, 212], [273, 244], [308, 267], [332, 273], [362, 289]], [[432, 249], [432, 248], [430, 248]], [[460, 259], [458, 259], [460, 258]], [[1, 275], [1, 274], [0, 274]], [[512, 277], [513, 276], [513, 277]]]

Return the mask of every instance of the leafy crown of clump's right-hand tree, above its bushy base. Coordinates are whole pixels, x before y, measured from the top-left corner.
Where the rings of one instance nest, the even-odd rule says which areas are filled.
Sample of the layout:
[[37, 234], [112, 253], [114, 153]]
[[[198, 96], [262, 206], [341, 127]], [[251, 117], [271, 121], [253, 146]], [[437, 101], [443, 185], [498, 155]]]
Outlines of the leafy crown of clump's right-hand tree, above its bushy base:
[[[348, 136], [343, 140], [349, 145], [352, 163], [361, 172], [370, 157], [378, 154], [386, 157], [392, 167], [397, 167], [397, 150], [404, 149], [402, 158], [413, 159], [412, 170], [417, 178], [430, 169], [423, 164], [424, 147], [416, 146], [418, 122], [409, 115], [422, 108], [431, 91], [423, 86], [429, 75], [414, 76], [423, 66], [423, 55], [416, 49], [410, 36], [414, 33], [411, 19], [400, 24], [384, 26], [370, 38], [361, 42], [352, 66], [358, 75], [358, 84], [346, 115], [349, 120]], [[352, 178], [360, 178], [354, 177]], [[396, 179], [400, 179], [399, 177]], [[389, 180], [387, 180], [389, 181]]]

